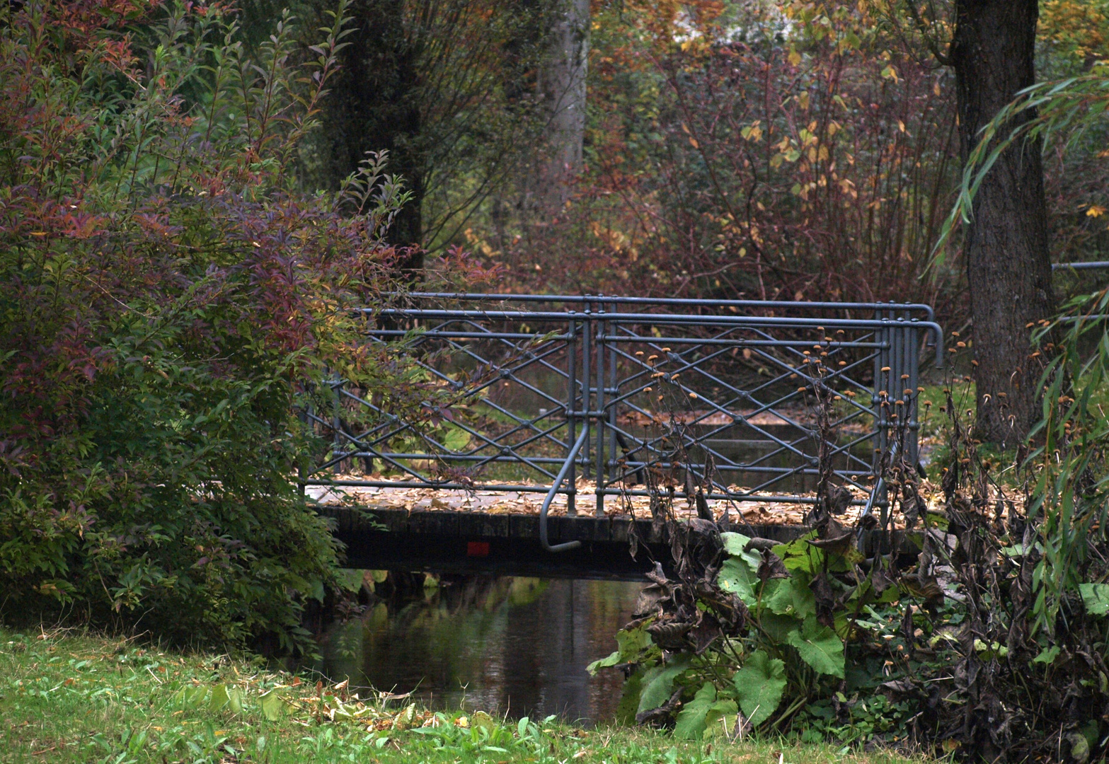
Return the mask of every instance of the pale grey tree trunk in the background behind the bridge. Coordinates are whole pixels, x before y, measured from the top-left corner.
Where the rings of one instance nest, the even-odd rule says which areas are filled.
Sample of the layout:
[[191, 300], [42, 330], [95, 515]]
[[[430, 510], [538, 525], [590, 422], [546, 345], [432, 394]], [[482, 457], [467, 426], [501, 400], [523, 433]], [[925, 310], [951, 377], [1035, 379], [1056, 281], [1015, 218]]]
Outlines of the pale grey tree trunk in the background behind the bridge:
[[586, 69], [589, 55], [589, 0], [558, 0], [550, 31], [550, 58], [539, 74], [549, 122], [531, 206], [558, 214], [570, 197], [570, 183], [581, 171], [586, 134]]

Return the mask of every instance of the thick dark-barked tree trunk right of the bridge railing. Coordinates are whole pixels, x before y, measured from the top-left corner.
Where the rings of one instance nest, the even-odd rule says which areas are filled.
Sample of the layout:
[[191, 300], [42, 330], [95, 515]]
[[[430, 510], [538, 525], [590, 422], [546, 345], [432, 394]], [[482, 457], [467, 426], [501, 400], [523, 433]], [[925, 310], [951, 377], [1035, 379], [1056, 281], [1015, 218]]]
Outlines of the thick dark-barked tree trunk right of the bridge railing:
[[[1038, 6], [1037, 0], [956, 0], [955, 13], [952, 63], [965, 161], [983, 125], [1035, 82]], [[1040, 152], [1040, 141], [1028, 140], [998, 157], [975, 196], [967, 231], [978, 361], [975, 431], [985, 441], [1015, 444], [1037, 419], [1040, 369], [1029, 358], [1027, 325], [1054, 309]]]

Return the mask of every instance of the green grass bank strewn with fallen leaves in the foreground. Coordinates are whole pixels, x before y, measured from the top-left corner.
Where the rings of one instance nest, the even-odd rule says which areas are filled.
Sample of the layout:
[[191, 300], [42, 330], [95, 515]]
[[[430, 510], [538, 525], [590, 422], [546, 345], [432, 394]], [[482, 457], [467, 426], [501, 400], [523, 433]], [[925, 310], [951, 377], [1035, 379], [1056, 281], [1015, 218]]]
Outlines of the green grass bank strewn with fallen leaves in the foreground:
[[0, 762], [926, 761], [784, 741], [683, 742], [653, 731], [582, 730], [553, 719], [520, 723], [344, 697], [342, 687], [271, 671], [260, 659], [0, 630]]

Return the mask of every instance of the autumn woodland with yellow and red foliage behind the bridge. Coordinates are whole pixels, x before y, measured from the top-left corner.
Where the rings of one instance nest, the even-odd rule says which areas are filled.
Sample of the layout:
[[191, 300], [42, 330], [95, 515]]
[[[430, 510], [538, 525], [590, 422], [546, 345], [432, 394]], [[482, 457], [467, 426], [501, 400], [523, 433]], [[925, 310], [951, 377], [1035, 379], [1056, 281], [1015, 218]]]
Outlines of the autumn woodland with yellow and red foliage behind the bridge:
[[[513, 289], [920, 300], [966, 328], [958, 256], [920, 278], [962, 173], [928, 7], [935, 39], [866, 0], [356, 3], [305, 182], [390, 150], [414, 194], [391, 241], [467, 247]], [[1107, 13], [1040, 3], [1038, 79], [1109, 55]], [[1055, 261], [1103, 246], [1101, 137], [1047, 154]]]

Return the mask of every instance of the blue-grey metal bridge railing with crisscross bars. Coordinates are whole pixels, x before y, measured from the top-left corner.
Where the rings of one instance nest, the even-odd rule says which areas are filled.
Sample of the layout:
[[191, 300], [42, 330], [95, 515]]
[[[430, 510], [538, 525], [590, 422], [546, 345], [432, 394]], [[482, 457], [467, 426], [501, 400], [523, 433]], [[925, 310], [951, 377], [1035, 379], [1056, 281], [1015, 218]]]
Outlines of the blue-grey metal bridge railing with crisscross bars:
[[[306, 412], [332, 449], [304, 485], [547, 493], [543, 517], [557, 493], [576, 512], [579, 477], [598, 516], [659, 491], [812, 503], [823, 444], [838, 481], [873, 492], [894, 432], [915, 464], [922, 348], [943, 357], [926, 305], [405, 298], [365, 310], [367, 342], [418, 364], [449, 417], [407, 421], [333, 379]], [[835, 397], [823, 424], [817, 390]]]

